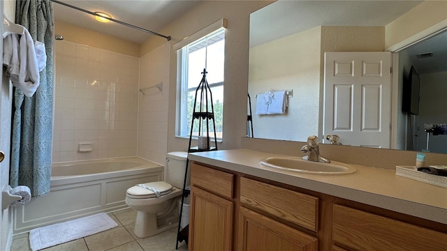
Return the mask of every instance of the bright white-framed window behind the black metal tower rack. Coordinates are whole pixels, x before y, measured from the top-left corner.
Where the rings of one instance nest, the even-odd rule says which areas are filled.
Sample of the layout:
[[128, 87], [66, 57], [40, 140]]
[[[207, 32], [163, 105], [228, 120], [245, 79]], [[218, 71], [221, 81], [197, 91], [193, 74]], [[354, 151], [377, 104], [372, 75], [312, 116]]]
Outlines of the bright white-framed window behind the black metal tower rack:
[[[194, 97], [205, 68], [212, 92], [216, 135], [218, 139], [222, 138], [224, 47], [225, 29], [220, 28], [177, 50], [176, 136], [189, 137]], [[210, 135], [212, 130], [211, 127]], [[196, 135], [198, 128], [193, 128], [193, 136]]]

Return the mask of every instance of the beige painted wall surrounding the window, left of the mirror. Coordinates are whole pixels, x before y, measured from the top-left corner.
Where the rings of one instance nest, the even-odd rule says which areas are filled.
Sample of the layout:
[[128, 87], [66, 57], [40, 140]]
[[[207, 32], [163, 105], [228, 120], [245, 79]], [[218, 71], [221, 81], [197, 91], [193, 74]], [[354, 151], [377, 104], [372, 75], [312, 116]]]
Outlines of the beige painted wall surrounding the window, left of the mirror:
[[[240, 147], [241, 137], [247, 131], [247, 82], [249, 57], [249, 15], [271, 1], [203, 1], [184, 13], [160, 33], [172, 37], [177, 43], [205, 26], [225, 17], [228, 29], [225, 36], [225, 85], [223, 87], [223, 141], [219, 149]], [[161, 38], [151, 38], [142, 45], [140, 54], [165, 43]], [[152, 59], [156, 61], [157, 59]], [[170, 83], [168, 107], [168, 151], [186, 151], [189, 139], [175, 137], [175, 97], [177, 89], [177, 56], [170, 52]]]

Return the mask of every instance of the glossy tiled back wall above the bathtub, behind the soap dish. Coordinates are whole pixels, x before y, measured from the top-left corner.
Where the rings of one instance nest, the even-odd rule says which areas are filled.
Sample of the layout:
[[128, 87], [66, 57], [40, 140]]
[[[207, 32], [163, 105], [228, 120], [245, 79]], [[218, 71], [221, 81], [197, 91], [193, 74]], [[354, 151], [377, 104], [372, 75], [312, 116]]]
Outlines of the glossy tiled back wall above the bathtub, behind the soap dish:
[[[138, 57], [55, 41], [53, 162], [137, 154]], [[93, 151], [80, 152], [89, 142]]]

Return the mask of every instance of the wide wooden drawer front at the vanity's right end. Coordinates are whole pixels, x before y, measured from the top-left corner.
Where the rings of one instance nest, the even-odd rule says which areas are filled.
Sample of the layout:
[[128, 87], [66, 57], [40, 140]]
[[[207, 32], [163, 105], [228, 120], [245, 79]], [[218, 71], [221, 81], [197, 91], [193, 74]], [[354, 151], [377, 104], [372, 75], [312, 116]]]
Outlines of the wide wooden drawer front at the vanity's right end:
[[447, 234], [334, 205], [333, 240], [349, 250], [446, 250]]

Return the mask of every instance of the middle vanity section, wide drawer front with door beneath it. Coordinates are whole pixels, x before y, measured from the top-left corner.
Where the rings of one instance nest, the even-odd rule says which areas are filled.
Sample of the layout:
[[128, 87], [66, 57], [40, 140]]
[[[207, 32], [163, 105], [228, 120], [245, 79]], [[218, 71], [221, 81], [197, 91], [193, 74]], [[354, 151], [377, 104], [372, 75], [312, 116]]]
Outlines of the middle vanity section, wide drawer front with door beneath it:
[[279, 218], [316, 232], [318, 198], [242, 177], [240, 204], [240, 251], [318, 250], [315, 233], [314, 236], [305, 234], [273, 219]]

